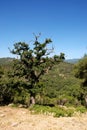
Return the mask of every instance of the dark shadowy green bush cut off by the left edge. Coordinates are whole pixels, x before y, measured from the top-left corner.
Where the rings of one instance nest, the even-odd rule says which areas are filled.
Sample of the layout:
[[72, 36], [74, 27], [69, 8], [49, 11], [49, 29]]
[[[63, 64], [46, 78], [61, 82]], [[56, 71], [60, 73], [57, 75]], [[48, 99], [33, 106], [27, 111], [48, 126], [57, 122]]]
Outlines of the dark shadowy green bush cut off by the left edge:
[[7, 68], [0, 66], [0, 105], [10, 103], [11, 100], [11, 88], [9, 86], [9, 78], [7, 76]]

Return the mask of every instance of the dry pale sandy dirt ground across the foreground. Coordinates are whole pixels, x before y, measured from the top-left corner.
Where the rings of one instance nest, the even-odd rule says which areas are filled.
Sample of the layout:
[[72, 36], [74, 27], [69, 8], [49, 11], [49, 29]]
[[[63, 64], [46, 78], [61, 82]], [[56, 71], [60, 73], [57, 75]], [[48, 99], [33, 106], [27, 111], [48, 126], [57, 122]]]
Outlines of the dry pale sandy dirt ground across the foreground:
[[0, 107], [0, 130], [87, 130], [87, 114], [54, 118], [5, 106]]

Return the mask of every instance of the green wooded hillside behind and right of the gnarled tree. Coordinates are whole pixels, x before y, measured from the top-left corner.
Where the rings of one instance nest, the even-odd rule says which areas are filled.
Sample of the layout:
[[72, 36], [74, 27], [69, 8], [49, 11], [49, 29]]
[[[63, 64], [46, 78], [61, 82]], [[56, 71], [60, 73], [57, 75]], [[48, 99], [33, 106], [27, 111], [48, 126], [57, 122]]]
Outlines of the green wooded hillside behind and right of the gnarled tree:
[[80, 80], [73, 75], [74, 65], [62, 62], [56, 64], [49, 73], [42, 77], [45, 89], [44, 93], [49, 98], [68, 98], [69, 102], [74, 104], [75, 100], [80, 98], [81, 88]]

